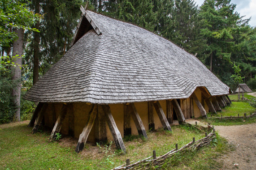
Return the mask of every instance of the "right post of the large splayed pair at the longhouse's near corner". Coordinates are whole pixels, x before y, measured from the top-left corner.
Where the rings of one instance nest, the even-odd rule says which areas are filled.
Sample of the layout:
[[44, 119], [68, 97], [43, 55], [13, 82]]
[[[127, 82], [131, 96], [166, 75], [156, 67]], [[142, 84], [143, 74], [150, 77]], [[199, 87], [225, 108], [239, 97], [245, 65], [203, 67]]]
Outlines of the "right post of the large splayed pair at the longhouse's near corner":
[[101, 106], [105, 113], [108, 127], [110, 129], [110, 132], [112, 133], [117, 149], [121, 149], [125, 153], [126, 152], [125, 144], [122, 140], [121, 133], [117, 128], [117, 125], [111, 113], [110, 107], [108, 105], [101, 105]]

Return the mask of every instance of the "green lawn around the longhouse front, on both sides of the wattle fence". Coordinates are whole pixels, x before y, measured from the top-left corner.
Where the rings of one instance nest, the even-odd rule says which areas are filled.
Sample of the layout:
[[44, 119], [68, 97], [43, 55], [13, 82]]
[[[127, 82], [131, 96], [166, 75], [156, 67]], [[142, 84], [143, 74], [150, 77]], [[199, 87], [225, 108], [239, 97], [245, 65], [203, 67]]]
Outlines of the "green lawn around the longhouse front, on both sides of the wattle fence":
[[[75, 153], [77, 139], [64, 137], [63, 139], [48, 144], [49, 133], [39, 132], [31, 134], [31, 127], [27, 127], [28, 121], [0, 125], [0, 169], [37, 169], [37, 170], [96, 170], [111, 169], [124, 164], [126, 159], [138, 161], [152, 155], [162, 155], [175, 148], [187, 144], [195, 137], [198, 140], [204, 137], [204, 132], [191, 130], [190, 127], [172, 126], [173, 132], [162, 129], [156, 132], [148, 132], [149, 140], [143, 140], [133, 136], [124, 141], [127, 153], [120, 154], [114, 150], [114, 144], [110, 146], [98, 146], [86, 144], [81, 153]], [[166, 166], [181, 168], [188, 166], [196, 169], [196, 165], [208, 167], [215, 166], [211, 157], [223, 152], [219, 147], [226, 147], [226, 143], [220, 140], [217, 147], [200, 149], [196, 153], [189, 153], [184, 160], [174, 160]], [[226, 147], [228, 148], [228, 147]], [[207, 155], [203, 154], [207, 153]], [[203, 160], [200, 159], [203, 157]], [[205, 163], [205, 159], [209, 162]], [[196, 160], [196, 161], [195, 161]]]

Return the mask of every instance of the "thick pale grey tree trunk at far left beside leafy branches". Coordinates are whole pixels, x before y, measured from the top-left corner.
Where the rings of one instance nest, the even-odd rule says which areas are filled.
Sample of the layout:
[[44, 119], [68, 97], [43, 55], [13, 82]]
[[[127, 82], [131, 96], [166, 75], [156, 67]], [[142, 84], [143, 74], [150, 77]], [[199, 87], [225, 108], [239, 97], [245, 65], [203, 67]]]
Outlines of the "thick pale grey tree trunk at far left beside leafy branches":
[[13, 56], [18, 55], [18, 57], [14, 58], [12, 62], [15, 63], [16, 67], [13, 66], [12, 69], [12, 80], [17, 81], [16, 86], [13, 88], [13, 102], [17, 107], [15, 117], [16, 121], [21, 120], [21, 77], [22, 77], [22, 51], [23, 51], [23, 40], [24, 40], [24, 30], [23, 29], [15, 29], [14, 32], [17, 34], [18, 39], [13, 42]]

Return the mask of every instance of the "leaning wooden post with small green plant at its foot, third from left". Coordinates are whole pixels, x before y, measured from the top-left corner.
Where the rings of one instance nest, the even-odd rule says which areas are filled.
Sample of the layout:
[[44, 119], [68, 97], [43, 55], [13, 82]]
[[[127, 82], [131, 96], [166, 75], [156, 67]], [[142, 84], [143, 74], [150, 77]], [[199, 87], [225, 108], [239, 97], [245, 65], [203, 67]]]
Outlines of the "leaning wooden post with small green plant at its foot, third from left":
[[52, 129], [52, 133], [51, 133], [51, 136], [50, 136], [48, 142], [52, 142], [56, 137], [56, 133], [59, 133], [61, 131], [61, 126], [63, 124], [66, 114], [67, 114], [67, 105], [63, 104], [61, 107], [61, 112], [58, 116], [58, 119], [56, 120], [56, 123], [55, 123], [53, 129]]

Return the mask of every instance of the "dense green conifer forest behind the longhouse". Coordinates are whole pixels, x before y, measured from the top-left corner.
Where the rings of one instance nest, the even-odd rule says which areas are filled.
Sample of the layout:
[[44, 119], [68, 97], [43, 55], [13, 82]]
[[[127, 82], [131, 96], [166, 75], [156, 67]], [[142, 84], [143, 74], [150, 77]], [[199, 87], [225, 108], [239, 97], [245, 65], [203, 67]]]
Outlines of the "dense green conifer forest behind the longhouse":
[[[22, 99], [69, 50], [85, 0], [0, 2], [0, 123], [26, 120], [37, 103]], [[230, 0], [89, 0], [87, 9], [132, 23], [189, 53], [231, 89], [256, 89], [256, 28]]]

